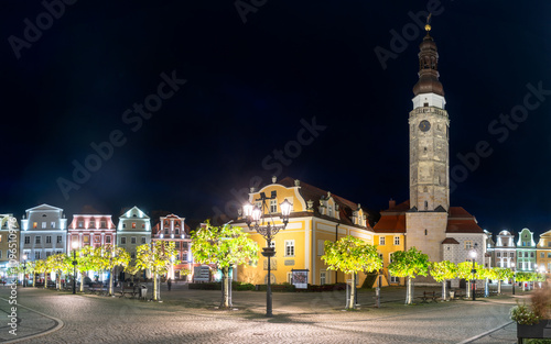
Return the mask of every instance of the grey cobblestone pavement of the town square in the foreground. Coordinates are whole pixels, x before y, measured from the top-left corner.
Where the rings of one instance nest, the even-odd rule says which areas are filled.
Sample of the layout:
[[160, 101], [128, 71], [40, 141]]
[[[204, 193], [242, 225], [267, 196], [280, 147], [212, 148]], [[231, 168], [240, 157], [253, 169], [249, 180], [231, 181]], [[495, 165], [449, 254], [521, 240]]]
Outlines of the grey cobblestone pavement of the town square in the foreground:
[[[220, 291], [182, 285], [172, 289], [163, 286], [163, 302], [147, 302], [18, 288], [20, 304], [64, 323], [58, 331], [21, 343], [516, 343], [516, 328], [506, 325], [515, 304], [510, 296], [404, 306], [403, 288], [385, 288], [382, 307], [376, 309], [374, 292], [361, 290], [363, 307], [345, 312], [343, 291], [273, 293], [274, 317], [266, 318], [264, 292], [234, 291], [236, 310], [223, 311], [215, 309]], [[415, 291], [423, 290], [440, 291]], [[0, 288], [1, 298], [9, 292]], [[54, 325], [31, 311], [18, 317], [18, 331], [39, 333]], [[7, 326], [1, 331], [0, 339], [10, 339]]]

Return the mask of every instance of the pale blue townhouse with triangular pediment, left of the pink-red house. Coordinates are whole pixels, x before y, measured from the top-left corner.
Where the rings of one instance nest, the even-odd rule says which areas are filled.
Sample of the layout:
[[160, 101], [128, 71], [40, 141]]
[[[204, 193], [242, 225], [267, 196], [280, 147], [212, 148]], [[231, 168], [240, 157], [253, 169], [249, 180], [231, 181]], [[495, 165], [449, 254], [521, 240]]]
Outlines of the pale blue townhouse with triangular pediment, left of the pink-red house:
[[67, 252], [66, 238], [67, 219], [63, 209], [41, 204], [25, 211], [21, 220], [20, 247], [28, 260], [45, 259]]

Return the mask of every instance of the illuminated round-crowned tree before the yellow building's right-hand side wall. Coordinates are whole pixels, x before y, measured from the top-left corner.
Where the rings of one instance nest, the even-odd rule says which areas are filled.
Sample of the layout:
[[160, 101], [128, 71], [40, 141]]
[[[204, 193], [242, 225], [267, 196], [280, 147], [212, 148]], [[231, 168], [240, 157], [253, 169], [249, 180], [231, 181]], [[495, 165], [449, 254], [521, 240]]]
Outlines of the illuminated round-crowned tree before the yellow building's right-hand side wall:
[[336, 242], [325, 241], [325, 254], [322, 256], [322, 260], [327, 264], [328, 270], [352, 274], [352, 291], [347, 309], [355, 308], [356, 274], [359, 271], [371, 273], [382, 267], [377, 247], [352, 235], [344, 236]]

